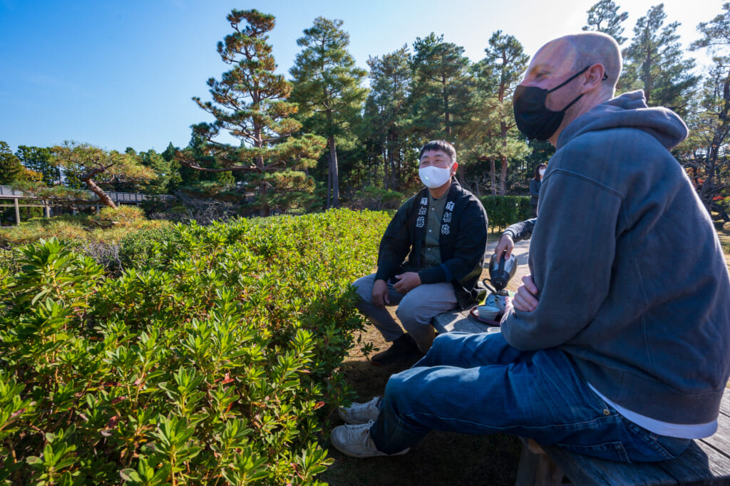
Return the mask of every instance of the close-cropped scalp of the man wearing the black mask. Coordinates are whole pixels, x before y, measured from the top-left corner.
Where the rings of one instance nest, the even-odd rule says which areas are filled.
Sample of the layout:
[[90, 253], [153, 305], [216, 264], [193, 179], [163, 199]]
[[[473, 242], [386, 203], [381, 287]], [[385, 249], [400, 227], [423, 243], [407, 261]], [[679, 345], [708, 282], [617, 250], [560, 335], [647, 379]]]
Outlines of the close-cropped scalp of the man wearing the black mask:
[[573, 60], [573, 69], [578, 71], [587, 66], [601, 64], [606, 74], [602, 83], [602, 94], [612, 98], [618, 77], [621, 75], [621, 50], [612, 36], [603, 32], [580, 32], [559, 37], [548, 42], [543, 49], [563, 50]]

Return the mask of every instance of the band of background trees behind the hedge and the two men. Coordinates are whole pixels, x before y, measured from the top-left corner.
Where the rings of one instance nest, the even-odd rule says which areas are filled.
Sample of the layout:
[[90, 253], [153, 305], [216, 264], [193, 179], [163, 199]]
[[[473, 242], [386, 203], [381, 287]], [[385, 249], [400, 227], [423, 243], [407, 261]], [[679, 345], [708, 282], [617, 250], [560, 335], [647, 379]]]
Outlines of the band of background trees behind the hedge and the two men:
[[[484, 57], [475, 60], [443, 35], [424, 32], [391, 53], [374, 53], [366, 73], [348, 52], [346, 23], [317, 17], [299, 39], [286, 80], [274, 73], [267, 41], [276, 19], [252, 9], [227, 20], [221, 28], [233, 31], [218, 55], [231, 69], [208, 81], [211, 101], [195, 99], [215, 122], [191, 126], [188, 147], [169, 144], [160, 154], [128, 148], [131, 166], [155, 177], [100, 176], [101, 190], [204, 192], [234, 205], [226, 215], [301, 214], [339, 200], [362, 207], [362, 191], [415, 192], [418, 148], [447, 139], [457, 148], [461, 185], [477, 195], [518, 196], [553, 151], [515, 128], [512, 93], [532, 53], [509, 32], [485, 34]], [[684, 117], [691, 136], [674, 155], [707, 209], [722, 216], [715, 201], [730, 196], [730, 4], [718, 3], [718, 15], [697, 26], [690, 45], [680, 42], [678, 26], [663, 4], [629, 19], [620, 4], [599, 0], [585, 12], [583, 30], [609, 34], [621, 47], [618, 93], [642, 89], [650, 106]], [[698, 66], [694, 50], [706, 52], [710, 66]], [[226, 131], [242, 143], [218, 142]], [[63, 160], [52, 155], [25, 145], [12, 153], [0, 142], [0, 182], [80, 187], [79, 175], [61, 174]]]

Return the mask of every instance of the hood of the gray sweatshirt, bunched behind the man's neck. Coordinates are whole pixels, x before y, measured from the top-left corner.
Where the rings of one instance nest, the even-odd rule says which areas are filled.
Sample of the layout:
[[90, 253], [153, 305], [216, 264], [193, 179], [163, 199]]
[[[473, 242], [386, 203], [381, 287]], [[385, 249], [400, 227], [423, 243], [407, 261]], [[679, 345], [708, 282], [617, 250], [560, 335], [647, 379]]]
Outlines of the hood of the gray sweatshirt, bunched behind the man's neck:
[[558, 137], [560, 149], [588, 131], [606, 128], [638, 128], [653, 136], [666, 150], [672, 150], [689, 133], [682, 119], [671, 109], [648, 107], [643, 90], [616, 96], [577, 117]]

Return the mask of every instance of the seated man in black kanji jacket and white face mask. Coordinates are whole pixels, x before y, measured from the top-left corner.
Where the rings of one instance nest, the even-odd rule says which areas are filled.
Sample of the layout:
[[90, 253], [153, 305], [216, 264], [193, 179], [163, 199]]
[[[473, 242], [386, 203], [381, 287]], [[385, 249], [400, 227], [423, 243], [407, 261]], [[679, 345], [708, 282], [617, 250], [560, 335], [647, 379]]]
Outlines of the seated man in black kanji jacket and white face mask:
[[[426, 187], [400, 207], [385, 230], [377, 272], [353, 284], [361, 297], [360, 312], [386, 342], [393, 342], [372, 357], [373, 364], [425, 353], [434, 340], [431, 318], [478, 298], [487, 214], [453, 178], [458, 163], [452, 144], [429, 142], [418, 158], [418, 175]], [[407, 333], [385, 309], [390, 305], [398, 306], [396, 315]]]

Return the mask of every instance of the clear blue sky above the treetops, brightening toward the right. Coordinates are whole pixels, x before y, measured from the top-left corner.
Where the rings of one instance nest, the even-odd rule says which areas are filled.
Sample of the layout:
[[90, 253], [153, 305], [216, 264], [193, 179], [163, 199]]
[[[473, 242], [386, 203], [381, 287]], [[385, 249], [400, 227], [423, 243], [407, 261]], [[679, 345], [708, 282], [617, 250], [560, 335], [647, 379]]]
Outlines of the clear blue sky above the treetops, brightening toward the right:
[[[366, 68], [369, 55], [393, 52], [431, 31], [483, 58], [502, 30], [529, 54], [546, 41], [585, 25], [597, 0], [0, 0], [0, 140], [47, 147], [64, 140], [107, 150], [185, 147], [190, 126], [210, 121], [191, 101], [210, 99], [206, 80], [228, 66], [215, 46], [231, 32], [231, 9], [272, 13], [269, 36], [278, 71], [286, 74], [296, 39], [318, 16], [344, 20], [350, 53]], [[616, 1], [616, 0], [615, 0]], [[629, 20], [660, 3], [618, 0]], [[721, 0], [666, 0], [666, 22], [682, 23], [683, 45], [696, 25], [721, 12]], [[706, 59], [700, 53], [689, 53]]]

